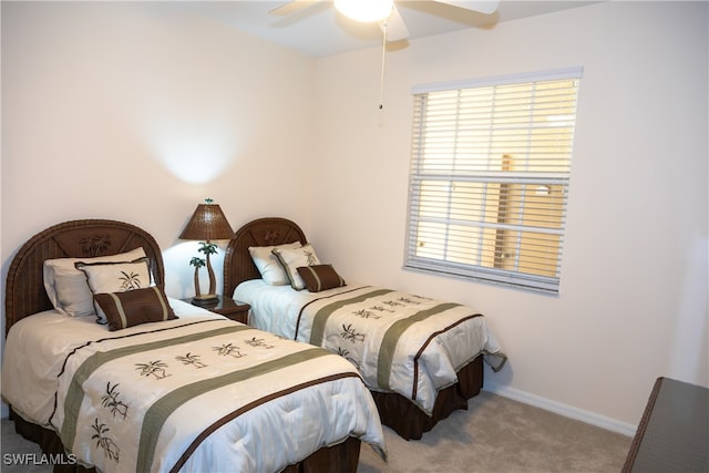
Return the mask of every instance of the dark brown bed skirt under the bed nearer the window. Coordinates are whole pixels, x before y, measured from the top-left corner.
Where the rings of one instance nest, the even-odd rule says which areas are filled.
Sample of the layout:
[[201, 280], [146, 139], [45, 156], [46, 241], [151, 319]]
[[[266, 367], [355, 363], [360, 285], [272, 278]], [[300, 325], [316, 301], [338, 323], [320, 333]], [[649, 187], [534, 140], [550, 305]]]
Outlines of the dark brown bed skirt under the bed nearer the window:
[[404, 440], [419, 440], [451, 412], [467, 410], [467, 400], [477, 395], [483, 387], [482, 354], [461, 368], [458, 383], [439, 392], [433, 415], [427, 415], [421, 409], [401, 394], [371, 391], [381, 423], [390, 426]]

